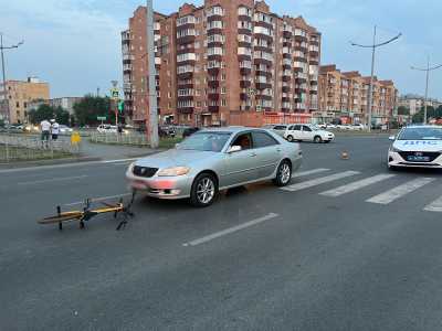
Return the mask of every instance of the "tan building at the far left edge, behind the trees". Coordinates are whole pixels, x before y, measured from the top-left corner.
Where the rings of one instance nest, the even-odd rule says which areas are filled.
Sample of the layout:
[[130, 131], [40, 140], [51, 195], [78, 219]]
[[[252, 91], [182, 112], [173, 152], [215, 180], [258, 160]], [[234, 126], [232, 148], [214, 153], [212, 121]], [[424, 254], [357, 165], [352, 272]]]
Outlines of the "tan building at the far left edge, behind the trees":
[[[27, 81], [7, 81], [7, 96], [3, 85], [0, 84], [0, 118], [11, 124], [28, 121], [29, 105], [35, 100], [49, 100], [49, 84], [38, 78], [29, 77]], [[8, 98], [9, 115], [7, 114], [6, 98]]]

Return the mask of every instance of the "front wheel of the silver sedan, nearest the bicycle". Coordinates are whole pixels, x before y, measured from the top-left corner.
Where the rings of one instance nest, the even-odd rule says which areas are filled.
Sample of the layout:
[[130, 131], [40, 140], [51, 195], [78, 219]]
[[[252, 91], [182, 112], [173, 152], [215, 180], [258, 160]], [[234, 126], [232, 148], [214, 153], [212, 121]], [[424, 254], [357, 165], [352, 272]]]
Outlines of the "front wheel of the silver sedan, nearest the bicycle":
[[190, 203], [197, 207], [206, 207], [218, 196], [218, 182], [210, 173], [201, 173], [196, 178], [190, 192]]

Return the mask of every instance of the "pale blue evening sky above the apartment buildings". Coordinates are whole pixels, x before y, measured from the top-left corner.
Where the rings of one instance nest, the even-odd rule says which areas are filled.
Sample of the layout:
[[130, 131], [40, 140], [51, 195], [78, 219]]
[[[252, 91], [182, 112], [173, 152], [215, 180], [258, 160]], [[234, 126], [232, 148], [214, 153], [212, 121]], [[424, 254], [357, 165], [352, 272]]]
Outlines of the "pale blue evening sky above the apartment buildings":
[[[177, 11], [183, 0], [154, 0], [162, 13]], [[191, 1], [197, 6], [203, 1]], [[410, 66], [442, 64], [441, 0], [267, 0], [277, 14], [303, 15], [323, 33], [322, 64], [369, 75], [373, 26], [378, 42], [402, 33], [379, 47], [375, 74], [393, 79], [400, 94], [424, 93], [425, 73]], [[122, 82], [120, 31], [145, 1], [136, 0], [0, 0], [0, 32], [6, 45], [24, 44], [6, 53], [7, 78], [38, 76], [51, 84], [51, 97], [108, 93]], [[442, 68], [430, 76], [429, 96], [442, 99]]]

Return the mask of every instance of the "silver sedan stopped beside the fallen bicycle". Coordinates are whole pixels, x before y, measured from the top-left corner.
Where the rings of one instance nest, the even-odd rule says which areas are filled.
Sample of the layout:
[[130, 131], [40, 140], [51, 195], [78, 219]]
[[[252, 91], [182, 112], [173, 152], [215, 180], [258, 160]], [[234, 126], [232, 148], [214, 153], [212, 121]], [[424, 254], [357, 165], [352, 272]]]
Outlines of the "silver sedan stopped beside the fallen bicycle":
[[230, 188], [265, 180], [287, 185], [301, 162], [298, 143], [270, 130], [227, 127], [201, 130], [175, 149], [137, 160], [126, 178], [149, 196], [208, 206]]

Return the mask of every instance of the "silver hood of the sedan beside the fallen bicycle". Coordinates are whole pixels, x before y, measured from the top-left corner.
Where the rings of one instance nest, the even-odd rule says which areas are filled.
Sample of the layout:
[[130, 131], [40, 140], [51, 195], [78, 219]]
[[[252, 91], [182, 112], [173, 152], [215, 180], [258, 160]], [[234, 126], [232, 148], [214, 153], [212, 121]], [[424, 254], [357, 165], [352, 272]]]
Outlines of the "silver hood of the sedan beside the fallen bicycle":
[[214, 154], [217, 153], [211, 151], [170, 149], [139, 159], [135, 164], [159, 169], [180, 166], [191, 167], [193, 163], [211, 158]]

